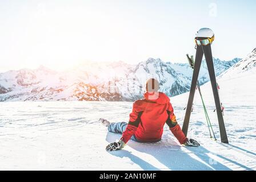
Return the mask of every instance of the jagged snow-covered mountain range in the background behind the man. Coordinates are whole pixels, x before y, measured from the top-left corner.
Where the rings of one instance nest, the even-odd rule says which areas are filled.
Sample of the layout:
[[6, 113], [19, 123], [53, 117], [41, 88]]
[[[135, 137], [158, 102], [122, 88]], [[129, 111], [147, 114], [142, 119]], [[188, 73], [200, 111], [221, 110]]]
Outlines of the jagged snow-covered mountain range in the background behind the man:
[[[214, 59], [217, 75], [237, 61]], [[191, 73], [188, 64], [152, 58], [138, 65], [87, 62], [66, 72], [41, 66], [0, 73], [0, 101], [134, 101], [142, 97], [150, 77], [158, 78], [161, 91], [171, 97], [189, 90]], [[209, 81], [204, 62], [199, 81]]]

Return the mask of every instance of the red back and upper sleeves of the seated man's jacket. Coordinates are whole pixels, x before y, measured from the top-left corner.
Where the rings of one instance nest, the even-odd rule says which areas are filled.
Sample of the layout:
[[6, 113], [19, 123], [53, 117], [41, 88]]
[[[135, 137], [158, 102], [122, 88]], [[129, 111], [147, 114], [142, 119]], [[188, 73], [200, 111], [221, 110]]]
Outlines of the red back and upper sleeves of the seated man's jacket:
[[[141, 142], [157, 142], [161, 140], [163, 126], [169, 113], [173, 113], [169, 97], [162, 92], [154, 92], [152, 94], [146, 92], [143, 100], [134, 102], [133, 112], [130, 114], [130, 122], [136, 121], [137, 113], [139, 112], [142, 112], [141, 121], [134, 133], [135, 138]], [[174, 115], [171, 116], [174, 119]]]

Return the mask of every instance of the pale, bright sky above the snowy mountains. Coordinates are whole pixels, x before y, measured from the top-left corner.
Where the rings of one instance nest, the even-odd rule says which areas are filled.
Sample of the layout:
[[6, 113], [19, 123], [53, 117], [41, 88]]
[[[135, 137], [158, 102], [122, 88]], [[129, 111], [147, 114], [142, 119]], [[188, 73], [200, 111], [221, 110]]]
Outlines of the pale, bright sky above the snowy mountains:
[[194, 35], [215, 33], [213, 56], [256, 47], [255, 1], [0, 1], [0, 71], [148, 57], [186, 63]]

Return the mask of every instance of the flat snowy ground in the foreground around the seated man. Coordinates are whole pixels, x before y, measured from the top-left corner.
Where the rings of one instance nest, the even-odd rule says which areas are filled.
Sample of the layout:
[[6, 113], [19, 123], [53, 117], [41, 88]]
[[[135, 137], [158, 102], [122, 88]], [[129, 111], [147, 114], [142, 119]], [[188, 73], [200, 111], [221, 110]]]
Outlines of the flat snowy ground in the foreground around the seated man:
[[[186, 102], [174, 99], [174, 103], [182, 126]], [[209, 138], [202, 106], [197, 103], [188, 137], [197, 139], [200, 147], [181, 146], [165, 126], [161, 142], [129, 141], [123, 150], [107, 152], [106, 145], [121, 135], [108, 133], [98, 118], [128, 121], [132, 102], [2, 102], [0, 169], [255, 170], [256, 123], [251, 114], [256, 106], [226, 105], [230, 144], [223, 144], [214, 107], [207, 110], [217, 142]]]

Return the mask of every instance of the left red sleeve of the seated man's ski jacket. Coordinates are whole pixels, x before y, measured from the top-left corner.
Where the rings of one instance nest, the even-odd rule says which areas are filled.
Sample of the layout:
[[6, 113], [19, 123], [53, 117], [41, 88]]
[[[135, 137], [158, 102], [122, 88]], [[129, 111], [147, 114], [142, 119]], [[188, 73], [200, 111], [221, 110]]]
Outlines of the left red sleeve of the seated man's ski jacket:
[[137, 131], [139, 123], [141, 122], [141, 114], [142, 114], [142, 110], [139, 109], [137, 102], [134, 102], [133, 111], [131, 111], [130, 113], [129, 123], [126, 127], [126, 130], [123, 131], [123, 135], [121, 138], [123, 142], [127, 143], [130, 140], [130, 138], [133, 136], [134, 132]]

